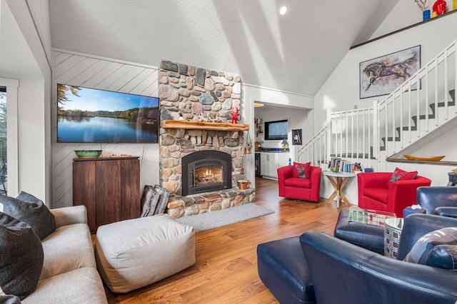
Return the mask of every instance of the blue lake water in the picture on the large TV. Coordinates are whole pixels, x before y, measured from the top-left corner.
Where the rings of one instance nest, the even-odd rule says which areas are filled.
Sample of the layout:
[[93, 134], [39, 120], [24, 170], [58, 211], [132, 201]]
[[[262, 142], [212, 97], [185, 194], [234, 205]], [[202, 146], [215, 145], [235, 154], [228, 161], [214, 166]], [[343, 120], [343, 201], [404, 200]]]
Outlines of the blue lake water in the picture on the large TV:
[[59, 143], [157, 143], [158, 120], [59, 116]]

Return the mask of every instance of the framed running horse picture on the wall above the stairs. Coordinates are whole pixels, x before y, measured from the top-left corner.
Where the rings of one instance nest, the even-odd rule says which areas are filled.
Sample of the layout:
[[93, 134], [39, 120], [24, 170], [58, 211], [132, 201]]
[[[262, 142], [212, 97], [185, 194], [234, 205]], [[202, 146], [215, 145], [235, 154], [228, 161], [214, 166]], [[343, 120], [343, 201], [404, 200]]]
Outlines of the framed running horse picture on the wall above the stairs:
[[388, 95], [420, 68], [420, 45], [363, 61], [359, 64], [360, 98]]

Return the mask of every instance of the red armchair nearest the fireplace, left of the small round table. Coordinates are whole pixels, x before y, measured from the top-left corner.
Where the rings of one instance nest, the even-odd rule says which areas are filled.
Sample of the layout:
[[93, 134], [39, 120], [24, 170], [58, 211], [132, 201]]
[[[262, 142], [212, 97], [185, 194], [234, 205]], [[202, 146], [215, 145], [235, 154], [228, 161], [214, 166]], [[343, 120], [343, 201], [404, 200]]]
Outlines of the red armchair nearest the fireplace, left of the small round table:
[[294, 177], [294, 166], [278, 168], [279, 196], [303, 201], [319, 201], [321, 189], [321, 168], [311, 166], [311, 178]]

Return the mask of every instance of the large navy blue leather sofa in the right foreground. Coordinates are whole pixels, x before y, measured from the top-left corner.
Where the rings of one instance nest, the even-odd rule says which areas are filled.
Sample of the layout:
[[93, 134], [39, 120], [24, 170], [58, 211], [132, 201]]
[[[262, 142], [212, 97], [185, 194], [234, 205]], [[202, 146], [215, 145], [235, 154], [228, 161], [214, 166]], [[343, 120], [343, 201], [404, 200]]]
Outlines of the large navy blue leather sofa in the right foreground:
[[258, 274], [280, 303], [456, 303], [457, 271], [402, 260], [421, 236], [444, 227], [457, 227], [457, 218], [408, 216], [398, 259], [326, 233], [273, 240], [257, 247]]

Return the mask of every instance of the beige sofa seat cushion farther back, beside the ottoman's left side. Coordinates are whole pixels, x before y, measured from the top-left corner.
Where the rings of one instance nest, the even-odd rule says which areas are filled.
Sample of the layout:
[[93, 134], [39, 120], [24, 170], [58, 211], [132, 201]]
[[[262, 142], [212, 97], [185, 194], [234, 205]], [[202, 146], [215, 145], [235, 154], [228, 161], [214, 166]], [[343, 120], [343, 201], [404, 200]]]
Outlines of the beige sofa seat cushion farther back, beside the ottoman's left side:
[[96, 268], [94, 246], [86, 224], [59, 227], [42, 244], [44, 265], [40, 280], [78, 268]]

